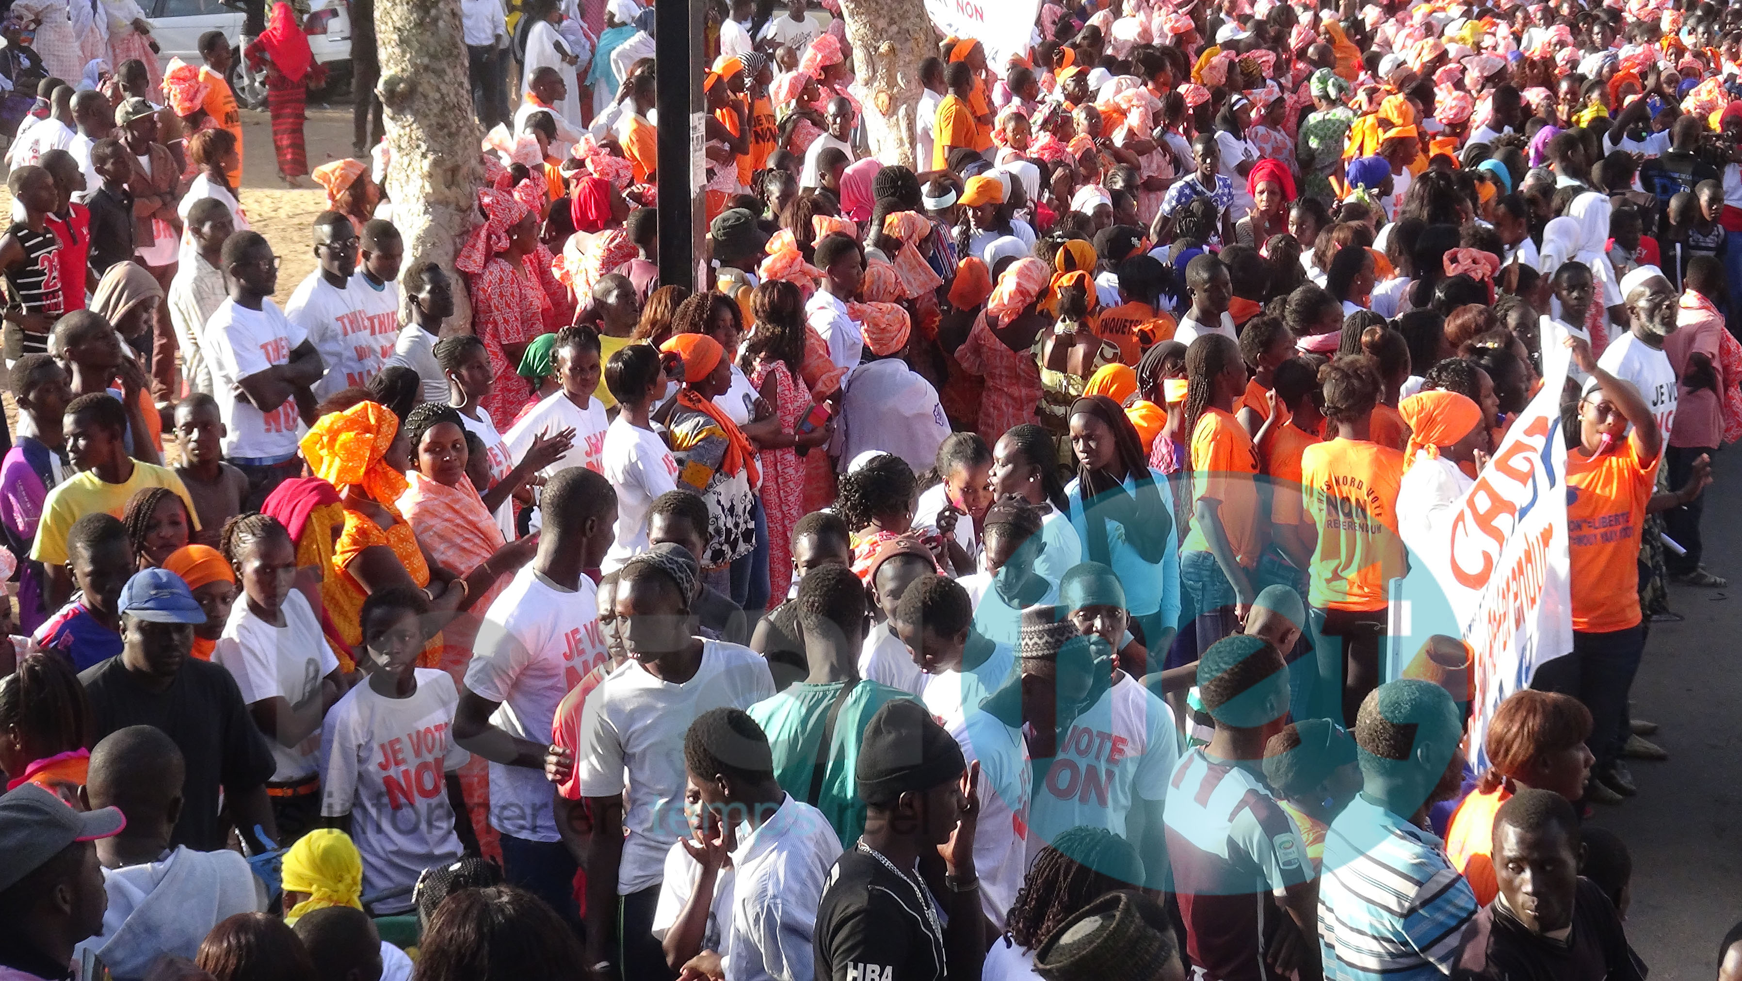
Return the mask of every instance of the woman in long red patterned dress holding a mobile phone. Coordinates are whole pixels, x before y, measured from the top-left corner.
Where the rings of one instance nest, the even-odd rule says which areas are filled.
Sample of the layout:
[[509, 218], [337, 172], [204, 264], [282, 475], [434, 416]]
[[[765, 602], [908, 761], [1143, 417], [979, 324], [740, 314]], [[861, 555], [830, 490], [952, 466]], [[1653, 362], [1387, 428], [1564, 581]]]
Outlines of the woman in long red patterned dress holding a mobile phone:
[[[756, 333], [744, 343], [740, 364], [775, 425], [751, 434], [763, 467], [761, 505], [768, 524], [768, 589], [786, 596], [793, 580], [793, 526], [805, 514], [805, 462], [800, 455], [829, 439], [829, 409], [812, 404], [800, 375], [805, 361], [805, 300], [798, 288], [768, 281], [751, 300]], [[820, 411], [819, 411], [820, 409]], [[808, 423], [808, 427], [807, 427]], [[751, 427], [756, 429], [756, 427]]]

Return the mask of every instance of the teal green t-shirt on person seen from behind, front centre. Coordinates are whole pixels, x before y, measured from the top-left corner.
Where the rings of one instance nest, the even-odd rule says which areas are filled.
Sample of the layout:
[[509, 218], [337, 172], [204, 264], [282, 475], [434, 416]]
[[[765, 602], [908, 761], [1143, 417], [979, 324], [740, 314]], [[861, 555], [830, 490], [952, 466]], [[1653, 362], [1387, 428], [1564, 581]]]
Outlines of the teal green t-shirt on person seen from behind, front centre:
[[859, 765], [859, 744], [866, 723], [883, 702], [913, 699], [901, 688], [876, 681], [859, 681], [847, 695], [834, 735], [829, 739], [829, 761], [822, 775], [822, 800], [810, 800], [810, 775], [817, 765], [817, 742], [829, 721], [829, 709], [840, 697], [845, 681], [833, 685], [807, 685], [800, 681], [772, 699], [751, 706], [749, 714], [768, 734], [773, 749], [773, 777], [780, 789], [815, 805], [841, 842], [857, 842], [866, 829], [866, 805], [854, 786], [854, 768]]

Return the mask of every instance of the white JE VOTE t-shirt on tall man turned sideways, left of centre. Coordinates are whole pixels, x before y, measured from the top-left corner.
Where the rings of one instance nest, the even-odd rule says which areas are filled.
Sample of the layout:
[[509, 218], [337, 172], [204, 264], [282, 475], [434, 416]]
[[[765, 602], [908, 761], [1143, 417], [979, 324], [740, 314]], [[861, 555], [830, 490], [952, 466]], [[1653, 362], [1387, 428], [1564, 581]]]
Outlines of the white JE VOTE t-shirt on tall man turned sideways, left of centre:
[[[484, 613], [474, 652], [465, 687], [500, 702], [490, 721], [509, 735], [549, 742], [563, 695], [610, 657], [598, 587], [584, 575], [577, 589], [563, 589], [524, 566]], [[491, 763], [490, 826], [528, 842], [557, 842], [552, 789], [542, 768]]]

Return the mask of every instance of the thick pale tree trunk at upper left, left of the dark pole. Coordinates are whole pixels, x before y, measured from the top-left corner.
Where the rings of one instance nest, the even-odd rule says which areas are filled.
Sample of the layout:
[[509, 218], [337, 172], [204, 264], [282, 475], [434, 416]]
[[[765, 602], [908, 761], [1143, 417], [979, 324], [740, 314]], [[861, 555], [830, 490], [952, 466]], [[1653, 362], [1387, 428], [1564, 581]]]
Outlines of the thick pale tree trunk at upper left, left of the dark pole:
[[[406, 240], [404, 268], [434, 261], [453, 279], [453, 317], [442, 333], [469, 333], [472, 303], [453, 256], [479, 223], [483, 181], [479, 141], [467, 82], [460, 3], [455, 0], [376, 0], [381, 113], [387, 125], [387, 195]], [[406, 300], [409, 303], [409, 296]]]

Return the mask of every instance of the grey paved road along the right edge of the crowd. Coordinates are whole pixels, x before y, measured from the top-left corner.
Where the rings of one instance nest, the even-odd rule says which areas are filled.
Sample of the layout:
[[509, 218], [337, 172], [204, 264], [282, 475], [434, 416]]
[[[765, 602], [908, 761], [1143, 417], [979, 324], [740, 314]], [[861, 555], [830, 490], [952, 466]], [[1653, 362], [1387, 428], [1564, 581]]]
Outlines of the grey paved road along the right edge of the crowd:
[[1665, 763], [1631, 760], [1639, 796], [1599, 807], [1594, 824], [1632, 850], [1627, 937], [1653, 981], [1711, 981], [1718, 943], [1742, 920], [1742, 451], [1714, 462], [1707, 491], [1705, 566], [1730, 589], [1672, 587], [1681, 624], [1653, 624], [1634, 681], [1634, 718], [1664, 728], [1653, 737]]

